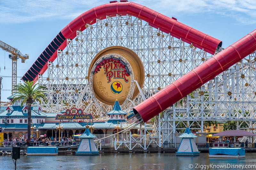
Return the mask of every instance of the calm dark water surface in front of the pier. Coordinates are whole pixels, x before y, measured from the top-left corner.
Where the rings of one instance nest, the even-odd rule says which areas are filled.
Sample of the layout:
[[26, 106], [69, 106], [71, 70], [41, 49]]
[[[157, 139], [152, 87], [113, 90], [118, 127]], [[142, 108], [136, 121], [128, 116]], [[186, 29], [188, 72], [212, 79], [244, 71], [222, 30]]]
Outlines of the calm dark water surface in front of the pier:
[[[58, 156], [20, 155], [20, 159], [17, 159], [16, 169], [100, 170], [101, 168], [106, 167], [108, 170], [191, 170], [242, 169], [242, 166], [245, 165], [247, 165], [247, 168], [244, 167], [244, 169], [255, 169], [248, 167], [256, 165], [255, 157], [256, 153], [246, 153], [246, 158], [239, 159], [208, 158], [208, 153], [200, 153], [200, 156], [194, 157], [175, 156], [175, 153], [105, 153], [94, 156], [60, 154]], [[190, 168], [192, 167], [190, 164], [193, 168]], [[225, 165], [227, 168], [220, 168], [220, 166]], [[233, 166], [233, 168], [230, 166]], [[15, 169], [12, 156], [0, 156], [0, 169]]]

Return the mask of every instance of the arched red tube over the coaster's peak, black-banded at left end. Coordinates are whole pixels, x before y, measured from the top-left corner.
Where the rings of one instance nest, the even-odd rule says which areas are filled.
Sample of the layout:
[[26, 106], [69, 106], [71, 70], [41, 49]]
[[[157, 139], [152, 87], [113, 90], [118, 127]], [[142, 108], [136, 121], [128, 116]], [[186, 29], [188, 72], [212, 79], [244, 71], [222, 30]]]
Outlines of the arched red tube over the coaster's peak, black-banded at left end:
[[210, 54], [214, 54], [216, 48], [221, 47], [222, 42], [194, 28], [180, 23], [175, 18], [169, 18], [163, 14], [156, 12], [133, 2], [121, 0], [120, 2], [111, 1], [109, 4], [100, 5], [84, 12], [76, 19], [71, 21], [53, 41], [45, 48], [42, 54], [37, 58], [35, 63], [30, 67], [26, 74], [21, 78], [23, 81], [34, 81], [38, 79], [39, 74], [43, 74], [47, 69], [49, 61], [54, 61], [57, 57], [57, 50], [63, 50], [66, 46], [66, 39], [76, 37], [76, 30], [83, 31], [86, 24], [96, 23], [96, 18], [105, 19], [106, 16], [132, 15], [149, 23], [150, 26], [159, 28], [165, 33], [181, 39], [195, 47], [203, 49]]

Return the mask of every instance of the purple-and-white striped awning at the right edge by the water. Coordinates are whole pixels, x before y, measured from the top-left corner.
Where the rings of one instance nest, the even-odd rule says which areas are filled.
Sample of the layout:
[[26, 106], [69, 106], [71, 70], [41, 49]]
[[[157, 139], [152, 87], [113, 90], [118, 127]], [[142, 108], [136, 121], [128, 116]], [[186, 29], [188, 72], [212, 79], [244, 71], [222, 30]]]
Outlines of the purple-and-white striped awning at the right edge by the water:
[[213, 137], [214, 136], [219, 136], [219, 137], [227, 137], [227, 136], [235, 136], [235, 137], [239, 137], [239, 136], [256, 136], [255, 133], [251, 133], [251, 132], [248, 132], [246, 130], [225, 130], [223, 132], [220, 132], [220, 133], [215, 133], [212, 135]]

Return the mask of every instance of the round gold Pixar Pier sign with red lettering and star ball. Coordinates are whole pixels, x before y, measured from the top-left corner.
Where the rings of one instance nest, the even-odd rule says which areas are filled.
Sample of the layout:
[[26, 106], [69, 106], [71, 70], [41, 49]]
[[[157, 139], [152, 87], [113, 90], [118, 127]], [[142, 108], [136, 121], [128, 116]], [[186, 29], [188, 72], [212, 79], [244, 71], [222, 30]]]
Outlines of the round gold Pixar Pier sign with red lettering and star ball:
[[[113, 58], [111, 54], [116, 54], [119, 57]], [[103, 56], [104, 59], [98, 61]], [[92, 75], [90, 72], [88, 73], [88, 77], [92, 78], [93, 92], [98, 100], [108, 105], [114, 105], [116, 99], [120, 105], [124, 103], [131, 86], [131, 70], [128, 65], [132, 68], [134, 80], [138, 81], [142, 88], [144, 67], [138, 55], [132, 50], [121, 46], [108, 47], [93, 58], [89, 70], [95, 69], [92, 70]], [[131, 100], [138, 94], [139, 89], [135, 85]]]

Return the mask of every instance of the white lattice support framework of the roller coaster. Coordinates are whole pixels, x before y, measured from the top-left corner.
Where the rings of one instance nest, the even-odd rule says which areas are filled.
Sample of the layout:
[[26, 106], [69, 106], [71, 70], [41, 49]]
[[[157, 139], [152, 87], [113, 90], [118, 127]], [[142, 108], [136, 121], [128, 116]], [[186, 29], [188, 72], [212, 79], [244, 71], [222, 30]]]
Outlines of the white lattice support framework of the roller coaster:
[[[132, 80], [132, 87], [139, 89], [139, 95], [133, 100], [128, 98], [121, 106], [127, 113], [132, 107], [212, 57], [203, 49], [130, 15], [107, 16], [104, 20], [97, 19], [95, 24], [86, 26], [83, 32], [76, 32], [75, 39], [67, 40], [67, 47], [59, 50], [56, 60], [49, 62], [45, 73], [39, 75], [39, 85], [46, 86], [49, 91], [49, 102], [44, 103], [44, 106], [59, 111], [77, 107], [92, 113], [96, 118], [106, 116], [113, 106], [100, 102], [94, 96], [88, 73], [92, 72], [89, 66], [94, 56], [110, 46], [131, 49], [140, 57], [144, 66], [143, 88], [140, 88], [136, 79]], [[144, 149], [150, 143], [158, 147], [165, 143], [174, 144], [175, 133], [180, 129], [186, 129], [188, 124], [191, 131], [200, 133], [203, 132], [205, 121], [236, 121], [237, 129], [250, 130], [249, 127], [254, 127], [256, 121], [255, 61], [255, 53], [252, 53], [159, 113], [149, 128], [150, 132], [147, 124], [140, 124], [140, 130], [144, 129], [145, 133], [140, 134], [139, 138], [131, 135], [131, 141], [138, 141], [136, 144]], [[244, 123], [248, 127], [242, 128]], [[150, 137], [147, 137], [148, 133], [151, 133]], [[133, 149], [131, 142], [120, 142]], [[116, 149], [119, 146], [117, 144]]]

